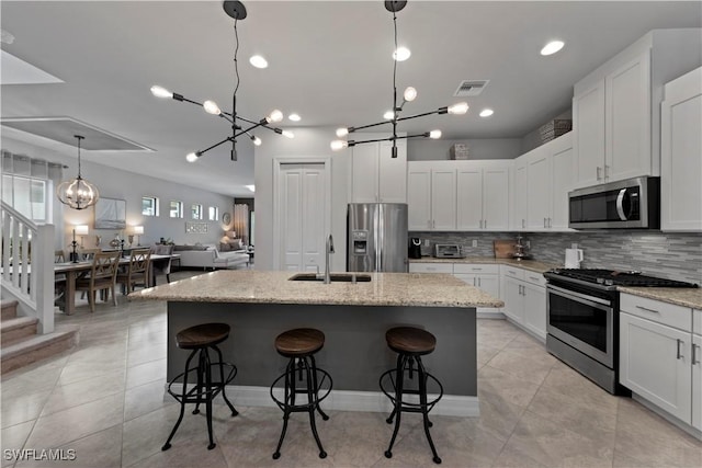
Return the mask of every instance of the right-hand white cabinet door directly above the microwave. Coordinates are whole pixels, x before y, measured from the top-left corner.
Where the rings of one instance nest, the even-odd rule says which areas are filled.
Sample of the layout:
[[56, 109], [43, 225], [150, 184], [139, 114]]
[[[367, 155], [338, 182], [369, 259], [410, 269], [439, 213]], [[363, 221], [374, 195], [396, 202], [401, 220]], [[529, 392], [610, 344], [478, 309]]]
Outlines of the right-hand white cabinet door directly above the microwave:
[[652, 173], [650, 52], [605, 78], [605, 182]]

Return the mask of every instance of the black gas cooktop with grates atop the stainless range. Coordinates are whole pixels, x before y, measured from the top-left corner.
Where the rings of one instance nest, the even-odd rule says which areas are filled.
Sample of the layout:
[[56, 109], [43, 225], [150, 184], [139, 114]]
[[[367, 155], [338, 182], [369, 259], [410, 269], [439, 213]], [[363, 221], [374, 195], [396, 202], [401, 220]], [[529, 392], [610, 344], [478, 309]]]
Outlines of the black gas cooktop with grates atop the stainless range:
[[694, 283], [647, 276], [637, 271], [555, 269], [544, 273], [544, 276], [550, 279], [576, 281], [600, 286], [700, 287]]

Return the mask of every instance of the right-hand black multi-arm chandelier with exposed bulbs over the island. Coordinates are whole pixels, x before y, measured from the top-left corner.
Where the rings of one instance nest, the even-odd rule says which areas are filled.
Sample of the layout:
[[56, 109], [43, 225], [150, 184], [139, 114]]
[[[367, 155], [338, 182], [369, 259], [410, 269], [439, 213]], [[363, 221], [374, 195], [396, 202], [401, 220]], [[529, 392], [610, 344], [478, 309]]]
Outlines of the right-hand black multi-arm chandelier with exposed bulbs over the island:
[[349, 134], [354, 132], [377, 127], [381, 125], [392, 124], [393, 125], [393, 136], [387, 138], [377, 138], [371, 140], [362, 140], [355, 141], [350, 139], [337, 139], [331, 141], [331, 149], [335, 151], [340, 151], [344, 148], [350, 148], [356, 145], [362, 145], [366, 142], [377, 142], [377, 141], [393, 141], [393, 158], [397, 158], [397, 140], [406, 139], [406, 138], [432, 138], [438, 139], [441, 138], [441, 130], [431, 130], [423, 132], [416, 135], [407, 135], [407, 136], [397, 136], [397, 123], [403, 121], [409, 121], [411, 118], [426, 117], [428, 115], [433, 114], [454, 114], [462, 115], [468, 112], [468, 104], [465, 102], [460, 102], [450, 106], [439, 107], [435, 111], [424, 112], [421, 114], [410, 115], [406, 117], [400, 117], [400, 112], [403, 112], [403, 107], [406, 103], [414, 101], [417, 98], [417, 90], [412, 87], [408, 87], [403, 93], [403, 102], [401, 104], [397, 104], [397, 62], [406, 60], [409, 58], [409, 50], [397, 47], [397, 15], [396, 13], [403, 10], [407, 5], [407, 1], [386, 1], [385, 9], [393, 13], [393, 25], [395, 31], [395, 52], [393, 53], [393, 110], [385, 113], [383, 122], [377, 122], [375, 124], [361, 125], [356, 127], [343, 127], [337, 129], [337, 137], [343, 138]]

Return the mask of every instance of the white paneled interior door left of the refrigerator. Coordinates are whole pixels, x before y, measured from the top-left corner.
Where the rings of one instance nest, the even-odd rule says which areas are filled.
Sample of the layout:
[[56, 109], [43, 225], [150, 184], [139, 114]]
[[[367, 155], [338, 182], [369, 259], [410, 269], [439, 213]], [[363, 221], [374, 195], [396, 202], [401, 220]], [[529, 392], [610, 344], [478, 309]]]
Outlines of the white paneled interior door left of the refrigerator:
[[324, 269], [326, 181], [324, 163], [281, 164], [279, 217], [281, 270]]

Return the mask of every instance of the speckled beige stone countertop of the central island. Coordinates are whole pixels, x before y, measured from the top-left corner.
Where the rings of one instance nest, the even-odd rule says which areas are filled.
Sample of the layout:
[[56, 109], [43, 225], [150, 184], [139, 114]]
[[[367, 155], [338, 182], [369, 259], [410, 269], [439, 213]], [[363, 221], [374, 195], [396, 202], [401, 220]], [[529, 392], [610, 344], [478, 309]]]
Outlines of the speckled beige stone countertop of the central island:
[[450, 274], [366, 273], [367, 283], [288, 281], [296, 272], [218, 270], [129, 294], [131, 300], [498, 308], [505, 303]]

